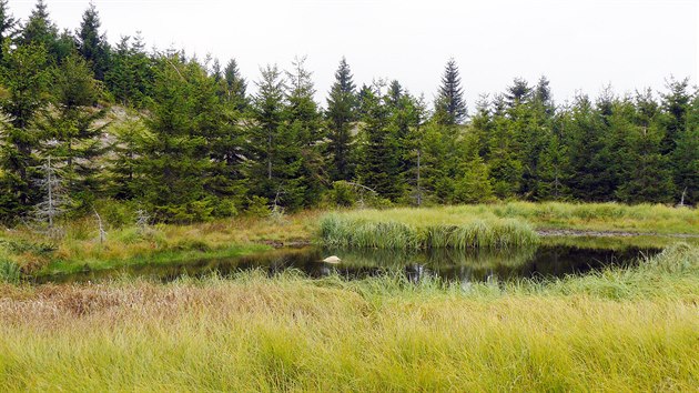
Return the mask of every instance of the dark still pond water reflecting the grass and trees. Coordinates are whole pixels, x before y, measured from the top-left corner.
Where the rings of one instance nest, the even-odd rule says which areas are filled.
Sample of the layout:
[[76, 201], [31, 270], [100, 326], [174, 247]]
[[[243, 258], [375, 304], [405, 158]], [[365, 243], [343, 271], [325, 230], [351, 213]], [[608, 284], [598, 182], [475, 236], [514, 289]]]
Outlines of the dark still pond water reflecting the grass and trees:
[[[508, 252], [432, 250], [395, 252], [386, 250], [327, 250], [318, 248], [280, 249], [252, 256], [193, 260], [171, 265], [140, 265], [107, 271], [85, 271], [51, 275], [37, 282], [103, 281], [122, 276], [143, 276], [163, 282], [183, 275], [201, 278], [216, 273], [229, 276], [236, 272], [260, 269], [270, 275], [290, 269], [312, 278], [340, 274], [361, 279], [379, 274], [405, 274], [412, 281], [438, 276], [448, 281], [508, 281], [517, 279], [551, 279], [579, 275], [606, 266], [631, 266], [641, 256], [658, 253], [657, 249], [626, 248], [604, 250], [563, 245]], [[328, 255], [342, 259], [338, 264], [322, 262]]]

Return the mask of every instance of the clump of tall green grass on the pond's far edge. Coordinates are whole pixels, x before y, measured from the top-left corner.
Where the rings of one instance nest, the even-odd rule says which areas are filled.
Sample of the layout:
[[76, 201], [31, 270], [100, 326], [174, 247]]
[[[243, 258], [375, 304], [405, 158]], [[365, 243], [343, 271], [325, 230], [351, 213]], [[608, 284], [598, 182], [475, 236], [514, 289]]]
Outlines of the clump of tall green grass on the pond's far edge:
[[326, 246], [374, 249], [511, 249], [536, 245], [538, 235], [516, 220], [475, 220], [460, 225], [412, 225], [342, 214], [321, 218], [320, 240]]

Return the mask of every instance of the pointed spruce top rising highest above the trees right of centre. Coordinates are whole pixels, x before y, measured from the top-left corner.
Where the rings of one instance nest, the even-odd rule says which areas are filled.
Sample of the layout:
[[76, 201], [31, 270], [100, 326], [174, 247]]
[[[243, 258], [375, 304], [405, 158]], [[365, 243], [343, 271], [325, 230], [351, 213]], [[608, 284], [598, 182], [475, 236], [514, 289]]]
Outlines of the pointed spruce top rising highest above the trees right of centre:
[[466, 119], [466, 101], [462, 78], [454, 59], [449, 59], [442, 75], [442, 87], [435, 100], [435, 117], [440, 124], [460, 124]]

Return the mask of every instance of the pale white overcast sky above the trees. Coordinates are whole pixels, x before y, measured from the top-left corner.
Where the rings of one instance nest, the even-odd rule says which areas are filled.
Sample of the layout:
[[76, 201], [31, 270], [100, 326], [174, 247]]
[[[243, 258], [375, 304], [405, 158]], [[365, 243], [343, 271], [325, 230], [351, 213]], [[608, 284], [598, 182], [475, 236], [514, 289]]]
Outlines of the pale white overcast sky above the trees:
[[[57, 24], [74, 30], [88, 0], [48, 0]], [[563, 102], [582, 91], [662, 89], [669, 75], [699, 73], [696, 0], [94, 0], [110, 42], [142, 31], [160, 49], [237, 59], [249, 80], [259, 67], [288, 68], [307, 56], [317, 98], [342, 56], [355, 83], [397, 79], [432, 100], [445, 62], [459, 64], [469, 110], [521, 77], [551, 81]], [[33, 0], [10, 0], [24, 20]], [[250, 83], [252, 84], [252, 83]]]

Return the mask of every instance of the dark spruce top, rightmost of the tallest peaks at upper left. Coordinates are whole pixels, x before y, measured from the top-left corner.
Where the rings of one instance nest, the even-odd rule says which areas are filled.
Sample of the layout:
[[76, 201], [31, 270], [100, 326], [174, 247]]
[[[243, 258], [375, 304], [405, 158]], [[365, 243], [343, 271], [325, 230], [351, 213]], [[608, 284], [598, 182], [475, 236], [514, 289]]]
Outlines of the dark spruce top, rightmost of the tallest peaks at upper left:
[[78, 51], [85, 59], [97, 80], [104, 80], [104, 73], [110, 63], [110, 47], [107, 37], [100, 33], [100, 16], [90, 2], [90, 7], [82, 14], [80, 29], [75, 32], [78, 39]]

